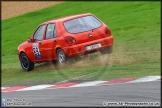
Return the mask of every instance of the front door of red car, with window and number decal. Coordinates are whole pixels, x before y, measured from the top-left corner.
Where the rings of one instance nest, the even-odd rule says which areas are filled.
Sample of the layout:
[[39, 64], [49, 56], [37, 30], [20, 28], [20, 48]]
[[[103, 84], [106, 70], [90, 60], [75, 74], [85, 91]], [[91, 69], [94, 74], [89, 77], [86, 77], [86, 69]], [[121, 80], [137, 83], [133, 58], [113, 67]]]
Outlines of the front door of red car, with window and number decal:
[[40, 25], [33, 35], [32, 50], [35, 56], [35, 61], [45, 59], [45, 52], [41, 49], [41, 42], [45, 34], [46, 24]]

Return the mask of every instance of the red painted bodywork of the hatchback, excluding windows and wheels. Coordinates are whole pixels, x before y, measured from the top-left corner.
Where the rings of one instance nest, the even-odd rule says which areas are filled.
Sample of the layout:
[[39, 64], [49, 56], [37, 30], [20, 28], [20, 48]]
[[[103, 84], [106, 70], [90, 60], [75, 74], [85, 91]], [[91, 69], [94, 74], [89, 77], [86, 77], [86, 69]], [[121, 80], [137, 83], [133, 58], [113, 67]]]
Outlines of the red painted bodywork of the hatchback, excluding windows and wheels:
[[[85, 54], [85, 53], [91, 52], [91, 51], [85, 51], [85, 46], [87, 46], [87, 45], [91, 45], [91, 44], [95, 44], [95, 43], [99, 43], [99, 42], [102, 44], [101, 48], [94, 49], [93, 51], [103, 49], [106, 46], [112, 46], [113, 45], [113, 36], [112, 35], [107, 36], [104, 34], [105, 28], [107, 27], [107, 25], [105, 25], [101, 20], [100, 21], [102, 22], [102, 26], [100, 28], [95, 29], [93, 32], [92, 32], [92, 30], [89, 30], [86, 32], [78, 33], [78, 34], [70, 34], [64, 28], [63, 22], [65, 22], [69, 19], [73, 19], [73, 18], [77, 18], [77, 17], [81, 17], [81, 16], [87, 16], [87, 15], [93, 15], [93, 14], [87, 13], [87, 14], [67, 16], [67, 17], [58, 18], [55, 20], [51, 20], [51, 21], [42, 23], [42, 24], [46, 24], [46, 27], [47, 27], [47, 24], [49, 24], [49, 23], [55, 24], [56, 38], [45, 39], [45, 36], [46, 36], [45, 35], [46, 29], [45, 29], [44, 35], [43, 35], [43, 40], [37, 41], [37, 42], [25, 41], [19, 45], [19, 47], [18, 47], [19, 59], [20, 59], [21, 52], [26, 53], [28, 58], [33, 62], [44, 62], [44, 61], [48, 61], [48, 60], [57, 60], [57, 57], [56, 57], [56, 49], [57, 48], [61, 48], [62, 50], [64, 50], [64, 52], [67, 54], [68, 57], [73, 57], [78, 54]], [[42, 25], [42, 24], [40, 24], [40, 25]], [[91, 33], [93, 35], [92, 38], [88, 37], [89, 33]], [[66, 43], [66, 41], [64, 39], [65, 36], [72, 36], [72, 37], [74, 37], [74, 39], [77, 42], [75, 44], [69, 45]], [[33, 35], [31, 36], [30, 39], [33, 39]], [[56, 40], [57, 42], [54, 42], [54, 40]], [[41, 42], [41, 45], [39, 45], [40, 53], [42, 55], [41, 59], [37, 59], [33, 53], [33, 50], [32, 50], [32, 44], [39, 43], [39, 42]]]

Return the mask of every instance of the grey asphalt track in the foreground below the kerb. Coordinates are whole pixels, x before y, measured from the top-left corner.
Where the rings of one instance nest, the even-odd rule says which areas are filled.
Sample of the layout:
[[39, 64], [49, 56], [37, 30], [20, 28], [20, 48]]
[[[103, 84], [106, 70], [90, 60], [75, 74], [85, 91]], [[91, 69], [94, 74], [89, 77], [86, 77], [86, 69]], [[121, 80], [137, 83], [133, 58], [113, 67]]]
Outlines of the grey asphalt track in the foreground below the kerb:
[[[2, 98], [25, 99], [26, 102], [32, 102], [32, 106], [40, 107], [136, 106], [137, 104], [134, 103], [137, 102], [159, 107], [161, 106], [161, 81], [15, 91], [1, 94]], [[120, 102], [122, 104], [119, 104]]]

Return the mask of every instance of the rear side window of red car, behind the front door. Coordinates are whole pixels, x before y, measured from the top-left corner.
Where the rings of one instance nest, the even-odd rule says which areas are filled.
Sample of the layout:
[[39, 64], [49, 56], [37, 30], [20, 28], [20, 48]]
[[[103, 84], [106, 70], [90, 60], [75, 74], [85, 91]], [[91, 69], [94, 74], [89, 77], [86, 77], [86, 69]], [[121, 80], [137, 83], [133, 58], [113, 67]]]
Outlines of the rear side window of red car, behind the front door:
[[56, 30], [54, 24], [48, 24], [47, 30], [46, 30], [46, 39], [54, 38], [56, 37]]

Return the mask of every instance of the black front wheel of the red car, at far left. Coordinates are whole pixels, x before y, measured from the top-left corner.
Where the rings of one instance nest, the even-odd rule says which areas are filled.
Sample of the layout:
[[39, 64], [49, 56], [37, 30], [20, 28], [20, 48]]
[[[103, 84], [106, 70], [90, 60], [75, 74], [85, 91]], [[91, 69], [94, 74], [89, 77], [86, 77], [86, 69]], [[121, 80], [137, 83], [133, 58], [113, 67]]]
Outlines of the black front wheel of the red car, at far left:
[[25, 53], [20, 55], [20, 63], [24, 71], [31, 71], [34, 68], [34, 62], [32, 62]]

